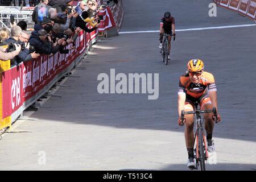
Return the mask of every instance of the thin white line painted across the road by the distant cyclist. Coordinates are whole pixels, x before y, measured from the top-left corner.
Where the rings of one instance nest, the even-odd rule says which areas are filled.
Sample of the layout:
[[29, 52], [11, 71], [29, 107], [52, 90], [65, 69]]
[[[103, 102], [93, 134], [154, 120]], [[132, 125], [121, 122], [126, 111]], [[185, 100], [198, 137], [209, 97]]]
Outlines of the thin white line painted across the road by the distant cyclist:
[[[205, 27], [205, 28], [188, 28], [188, 29], [180, 29], [180, 30], [175, 30], [175, 31], [176, 32], [183, 32], [183, 31], [212, 30], [212, 29], [251, 27], [251, 26], [256, 26], [256, 24], [241, 24], [241, 25], [220, 26], [220, 27]], [[127, 31], [127, 32], [119, 32], [119, 34], [139, 34], [139, 33], [155, 33], [155, 32], [159, 32], [159, 30]]]

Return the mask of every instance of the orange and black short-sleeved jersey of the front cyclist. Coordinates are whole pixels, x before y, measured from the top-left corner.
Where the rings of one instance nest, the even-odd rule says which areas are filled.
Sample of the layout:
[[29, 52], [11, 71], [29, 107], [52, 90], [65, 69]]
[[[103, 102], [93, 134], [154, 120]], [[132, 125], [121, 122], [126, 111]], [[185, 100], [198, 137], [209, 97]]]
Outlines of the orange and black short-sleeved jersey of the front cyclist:
[[185, 93], [189, 96], [199, 98], [203, 96], [203, 94], [207, 94], [210, 91], [216, 91], [216, 85], [214, 81], [214, 77], [211, 73], [203, 72], [201, 75], [201, 80], [198, 84], [194, 84], [189, 75], [183, 75], [180, 77], [179, 82], [179, 94]]

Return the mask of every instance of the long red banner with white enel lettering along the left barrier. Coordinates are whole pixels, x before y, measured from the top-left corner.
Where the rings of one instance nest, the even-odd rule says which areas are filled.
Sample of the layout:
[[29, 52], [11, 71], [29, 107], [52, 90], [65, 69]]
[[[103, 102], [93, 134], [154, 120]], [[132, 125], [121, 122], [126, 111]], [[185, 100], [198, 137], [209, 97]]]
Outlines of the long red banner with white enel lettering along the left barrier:
[[[93, 33], [91, 34], [94, 36]], [[27, 61], [2, 72], [2, 117], [9, 117], [22, 107], [25, 101], [35, 96], [55, 79], [58, 73], [65, 71], [85, 51], [90, 41], [88, 38], [90, 34], [80, 31], [76, 48], [68, 54], [58, 52], [52, 56], [43, 55], [36, 60]]]

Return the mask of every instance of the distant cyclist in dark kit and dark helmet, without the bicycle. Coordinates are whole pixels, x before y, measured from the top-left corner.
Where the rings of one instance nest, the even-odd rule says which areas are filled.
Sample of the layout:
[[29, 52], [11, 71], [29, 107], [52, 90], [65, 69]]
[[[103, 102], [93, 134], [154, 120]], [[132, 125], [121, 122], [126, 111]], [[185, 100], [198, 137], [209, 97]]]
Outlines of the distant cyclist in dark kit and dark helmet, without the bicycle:
[[[164, 17], [161, 19], [160, 22], [160, 46], [159, 48], [162, 49], [163, 47], [163, 34], [166, 33], [168, 35], [175, 36], [175, 19], [171, 16], [170, 12], [164, 13]], [[171, 39], [172, 36], [168, 36], [168, 59], [170, 59], [170, 52], [171, 52]]]

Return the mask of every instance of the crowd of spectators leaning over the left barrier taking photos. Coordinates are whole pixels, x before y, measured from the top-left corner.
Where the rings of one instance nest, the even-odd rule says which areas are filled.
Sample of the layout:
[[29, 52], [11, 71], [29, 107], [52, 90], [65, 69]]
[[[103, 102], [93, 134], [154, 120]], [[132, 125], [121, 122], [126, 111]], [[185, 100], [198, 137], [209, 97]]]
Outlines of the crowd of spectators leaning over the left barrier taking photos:
[[[99, 26], [97, 13], [100, 7], [96, 0], [80, 1], [75, 7], [70, 6], [71, 0], [26, 2], [37, 4], [32, 14], [35, 26], [31, 35], [26, 31], [25, 21], [12, 24], [11, 33], [7, 28], [0, 29], [0, 46], [7, 47], [0, 48], [0, 60], [11, 59], [11, 65], [36, 59], [40, 55], [68, 53], [75, 49], [81, 30], [92, 32]], [[86, 27], [86, 23], [93, 28]]]

